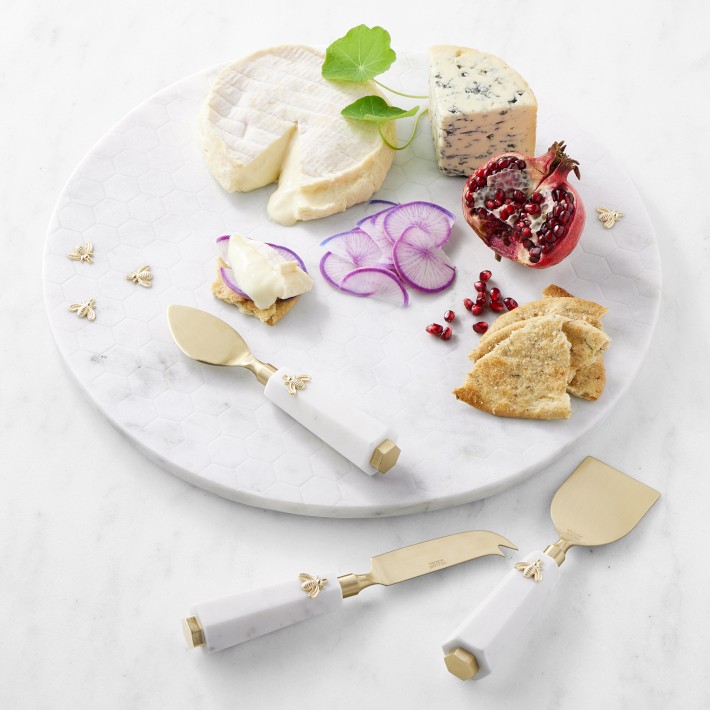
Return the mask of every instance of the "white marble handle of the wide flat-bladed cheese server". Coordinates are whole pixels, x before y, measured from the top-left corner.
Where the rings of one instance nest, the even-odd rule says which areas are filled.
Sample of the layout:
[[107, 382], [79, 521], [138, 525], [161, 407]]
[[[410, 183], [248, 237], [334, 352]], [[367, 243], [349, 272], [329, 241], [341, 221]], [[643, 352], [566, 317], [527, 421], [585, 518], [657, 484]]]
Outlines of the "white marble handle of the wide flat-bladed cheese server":
[[489, 675], [523, 633], [559, 576], [557, 563], [544, 552], [523, 557], [443, 644], [449, 671], [462, 680]]

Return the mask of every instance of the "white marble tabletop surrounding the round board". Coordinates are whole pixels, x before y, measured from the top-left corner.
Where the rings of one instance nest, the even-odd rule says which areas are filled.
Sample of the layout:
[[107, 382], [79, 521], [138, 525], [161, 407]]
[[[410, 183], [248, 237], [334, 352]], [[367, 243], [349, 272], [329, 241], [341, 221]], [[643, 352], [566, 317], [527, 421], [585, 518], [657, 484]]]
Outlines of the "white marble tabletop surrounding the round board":
[[[0, 26], [0, 707], [702, 708], [710, 616], [704, 359], [710, 266], [705, 166], [708, 11], [451, 3], [407, 10], [136, 0], [15, 3]], [[411, 13], [408, 16], [407, 13]], [[416, 14], [416, 16], [415, 16]], [[526, 35], [544, 20], [544, 34]], [[381, 24], [396, 47], [479, 46], [568, 98], [634, 177], [659, 234], [664, 298], [649, 357], [611, 416], [546, 471], [450, 510], [357, 520], [245, 507], [145, 459], [83, 398], [51, 337], [40, 262], [72, 170], [163, 86], [278, 42], [326, 44]], [[523, 550], [554, 541], [548, 506], [586, 454], [658, 488], [639, 528], [570, 554], [555, 603], [507, 668], [464, 684], [440, 643], [505, 571], [481, 560], [337, 615], [203, 656], [179, 619], [199, 600], [310, 569], [365, 571], [370, 555], [477, 527]]]

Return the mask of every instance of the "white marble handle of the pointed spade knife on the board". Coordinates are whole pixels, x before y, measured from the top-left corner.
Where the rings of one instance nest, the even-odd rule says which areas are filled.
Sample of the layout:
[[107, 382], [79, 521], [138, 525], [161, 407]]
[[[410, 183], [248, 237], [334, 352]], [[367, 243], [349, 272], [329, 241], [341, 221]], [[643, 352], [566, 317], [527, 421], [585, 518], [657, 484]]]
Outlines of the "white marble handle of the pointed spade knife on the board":
[[369, 476], [378, 471], [386, 473], [396, 463], [399, 448], [392, 429], [333, 396], [319, 385], [317, 377], [280, 368], [269, 377], [264, 392], [274, 404]]

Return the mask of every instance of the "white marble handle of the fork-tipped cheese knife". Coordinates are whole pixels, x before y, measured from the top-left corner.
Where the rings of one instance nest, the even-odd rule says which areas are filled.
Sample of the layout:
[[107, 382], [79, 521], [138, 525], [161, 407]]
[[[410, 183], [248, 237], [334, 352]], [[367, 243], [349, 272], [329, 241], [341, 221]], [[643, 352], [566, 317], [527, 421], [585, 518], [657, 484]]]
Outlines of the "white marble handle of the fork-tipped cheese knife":
[[212, 653], [335, 611], [342, 603], [336, 575], [301, 575], [290, 582], [195, 604], [183, 622], [184, 631], [189, 646]]

